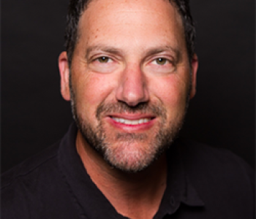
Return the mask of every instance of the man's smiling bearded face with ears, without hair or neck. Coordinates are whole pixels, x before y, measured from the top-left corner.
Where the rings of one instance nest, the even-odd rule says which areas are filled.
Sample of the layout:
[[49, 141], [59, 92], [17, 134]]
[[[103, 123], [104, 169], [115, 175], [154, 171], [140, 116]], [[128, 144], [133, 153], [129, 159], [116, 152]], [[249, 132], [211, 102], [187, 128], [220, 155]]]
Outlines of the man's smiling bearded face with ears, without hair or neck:
[[145, 169], [170, 145], [195, 94], [197, 61], [190, 69], [176, 8], [165, 0], [91, 1], [78, 36], [72, 88], [64, 58], [61, 92], [85, 144], [117, 169]]

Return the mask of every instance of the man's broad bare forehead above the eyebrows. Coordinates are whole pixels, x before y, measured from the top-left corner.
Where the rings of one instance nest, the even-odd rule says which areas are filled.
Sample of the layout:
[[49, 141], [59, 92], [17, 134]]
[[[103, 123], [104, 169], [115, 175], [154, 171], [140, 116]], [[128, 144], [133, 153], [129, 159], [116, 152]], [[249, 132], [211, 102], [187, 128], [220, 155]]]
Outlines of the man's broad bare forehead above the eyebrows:
[[[83, 12], [79, 35], [87, 40], [146, 43], [153, 39], [184, 41], [181, 16], [167, 0], [94, 0]], [[148, 39], [148, 40], [147, 40]], [[123, 41], [124, 42], [124, 41]], [[153, 43], [153, 42], [152, 42]]]

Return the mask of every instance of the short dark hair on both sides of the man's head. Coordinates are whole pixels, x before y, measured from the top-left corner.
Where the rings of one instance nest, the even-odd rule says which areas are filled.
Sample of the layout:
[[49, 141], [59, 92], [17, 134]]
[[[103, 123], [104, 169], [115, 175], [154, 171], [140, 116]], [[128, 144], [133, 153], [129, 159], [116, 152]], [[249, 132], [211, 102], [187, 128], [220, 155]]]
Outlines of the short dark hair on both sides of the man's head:
[[[65, 32], [65, 47], [67, 50], [67, 59], [69, 67], [71, 67], [72, 57], [75, 50], [75, 45], [78, 40], [78, 23], [80, 16], [86, 10], [90, 1], [93, 0], [70, 0], [67, 12], [67, 26]], [[187, 43], [187, 53], [191, 63], [195, 53], [195, 24], [190, 12], [189, 0], [169, 0], [174, 2], [179, 14], [183, 20], [185, 39]]]

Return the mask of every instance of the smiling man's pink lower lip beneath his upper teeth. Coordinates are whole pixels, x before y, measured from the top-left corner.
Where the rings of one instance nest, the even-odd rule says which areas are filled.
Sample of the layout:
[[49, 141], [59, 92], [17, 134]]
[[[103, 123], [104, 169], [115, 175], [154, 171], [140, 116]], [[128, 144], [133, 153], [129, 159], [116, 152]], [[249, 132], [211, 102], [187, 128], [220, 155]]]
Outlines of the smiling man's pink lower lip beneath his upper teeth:
[[149, 128], [151, 128], [154, 125], [155, 119], [149, 120], [147, 123], [140, 123], [137, 125], [129, 125], [125, 123], [118, 123], [116, 120], [113, 120], [112, 118], [108, 118], [108, 122], [116, 127], [120, 128], [124, 131], [146, 131]]

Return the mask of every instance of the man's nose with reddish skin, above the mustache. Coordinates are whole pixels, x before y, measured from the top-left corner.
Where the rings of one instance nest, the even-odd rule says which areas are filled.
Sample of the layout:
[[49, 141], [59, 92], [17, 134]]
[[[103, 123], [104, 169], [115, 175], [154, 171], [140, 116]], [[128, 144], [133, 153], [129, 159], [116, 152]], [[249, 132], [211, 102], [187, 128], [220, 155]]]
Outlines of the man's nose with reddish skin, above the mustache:
[[116, 99], [125, 102], [130, 107], [148, 101], [146, 77], [140, 66], [126, 66], [118, 83]]

